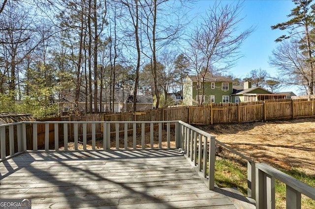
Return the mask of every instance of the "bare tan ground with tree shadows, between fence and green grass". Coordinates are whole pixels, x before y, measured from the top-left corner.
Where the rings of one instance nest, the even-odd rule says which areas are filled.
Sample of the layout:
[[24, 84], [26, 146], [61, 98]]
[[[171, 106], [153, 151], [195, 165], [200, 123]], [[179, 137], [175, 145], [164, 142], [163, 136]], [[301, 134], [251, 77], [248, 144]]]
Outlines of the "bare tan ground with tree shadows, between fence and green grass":
[[315, 118], [198, 128], [256, 162], [301, 169], [315, 178]]

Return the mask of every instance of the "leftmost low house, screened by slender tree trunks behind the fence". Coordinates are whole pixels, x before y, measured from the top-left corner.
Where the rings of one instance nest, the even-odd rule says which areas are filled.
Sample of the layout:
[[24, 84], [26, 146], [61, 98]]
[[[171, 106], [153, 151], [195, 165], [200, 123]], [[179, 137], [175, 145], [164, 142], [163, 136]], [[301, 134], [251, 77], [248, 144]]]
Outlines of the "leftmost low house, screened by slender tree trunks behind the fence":
[[[94, 94], [94, 93], [93, 93]], [[103, 91], [102, 93], [102, 105], [99, 104], [99, 92], [97, 98], [97, 111], [98, 112], [108, 112], [110, 108], [112, 108], [112, 101], [109, 102], [109, 93]], [[114, 110], [113, 112], [125, 112], [126, 111], [126, 101], [128, 96], [130, 95], [129, 89], [123, 88], [115, 88], [115, 99], [114, 99]], [[94, 95], [93, 95], [94, 96]], [[86, 98], [85, 93], [83, 91], [80, 92], [78, 109], [80, 112], [86, 112], [85, 104], [86, 100], [88, 101], [88, 108], [90, 107], [89, 97]], [[94, 112], [94, 98], [93, 98], [93, 107], [92, 111]], [[60, 99], [58, 102], [58, 112], [59, 115], [63, 115], [65, 112], [73, 111], [75, 105], [75, 97], [73, 92], [69, 92], [69, 94]], [[88, 109], [89, 110], [89, 109]]]

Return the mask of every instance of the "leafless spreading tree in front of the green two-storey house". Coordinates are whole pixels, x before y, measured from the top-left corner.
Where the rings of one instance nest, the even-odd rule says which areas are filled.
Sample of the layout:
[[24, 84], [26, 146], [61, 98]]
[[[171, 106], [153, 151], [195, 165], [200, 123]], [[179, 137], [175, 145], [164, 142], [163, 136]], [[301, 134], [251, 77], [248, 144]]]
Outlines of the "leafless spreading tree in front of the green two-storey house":
[[[222, 5], [216, 1], [206, 12], [203, 21], [190, 34], [187, 56], [190, 57], [192, 68], [200, 82], [204, 83], [206, 75], [228, 70], [241, 57], [239, 48], [253, 31], [250, 27], [239, 34], [235, 33], [239, 31], [242, 21], [239, 17], [241, 10], [241, 2]], [[202, 85], [201, 98], [204, 90]], [[203, 101], [198, 103], [202, 104]]]

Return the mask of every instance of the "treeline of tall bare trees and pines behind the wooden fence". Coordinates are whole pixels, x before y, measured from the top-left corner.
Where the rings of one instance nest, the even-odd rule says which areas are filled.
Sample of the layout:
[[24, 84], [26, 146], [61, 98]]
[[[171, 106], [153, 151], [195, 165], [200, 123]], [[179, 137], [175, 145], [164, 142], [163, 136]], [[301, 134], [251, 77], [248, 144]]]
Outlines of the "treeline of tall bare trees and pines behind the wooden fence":
[[[164, 105], [167, 103], [168, 92], [182, 91], [188, 73], [198, 75], [201, 81], [208, 73], [226, 74], [241, 57], [239, 48], [253, 31], [252, 27], [240, 30], [244, 2], [211, 1], [198, 17], [190, 13], [198, 6], [194, 3], [2, 1], [0, 112], [45, 116], [57, 112], [57, 101], [71, 102], [76, 110], [84, 102], [86, 112], [97, 112], [97, 104], [106, 101], [108, 111], [113, 111], [116, 88], [134, 95], [134, 110], [138, 94], [152, 95], [159, 107], [163, 106], [162, 97]], [[311, 6], [310, 2], [304, 4], [305, 8]], [[311, 18], [310, 12], [306, 11], [307, 18]], [[313, 31], [313, 22], [307, 26]], [[307, 49], [307, 57], [298, 57], [300, 64], [306, 61], [309, 66], [305, 68], [304, 62], [298, 69], [307, 72], [287, 75], [295, 75], [294, 84], [310, 90], [315, 89], [311, 50], [315, 42], [312, 36], [307, 40], [307, 46], [295, 48], [301, 55]]]

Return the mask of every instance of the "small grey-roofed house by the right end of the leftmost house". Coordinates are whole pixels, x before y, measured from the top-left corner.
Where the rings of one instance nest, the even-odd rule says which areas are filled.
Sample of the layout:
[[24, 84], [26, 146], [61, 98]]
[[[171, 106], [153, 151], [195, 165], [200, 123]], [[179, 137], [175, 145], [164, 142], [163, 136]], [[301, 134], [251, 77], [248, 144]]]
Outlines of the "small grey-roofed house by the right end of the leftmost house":
[[[137, 95], [137, 111], [153, 109], [153, 98], [147, 95]], [[133, 111], [133, 95], [129, 95], [126, 101], [126, 111]]]

